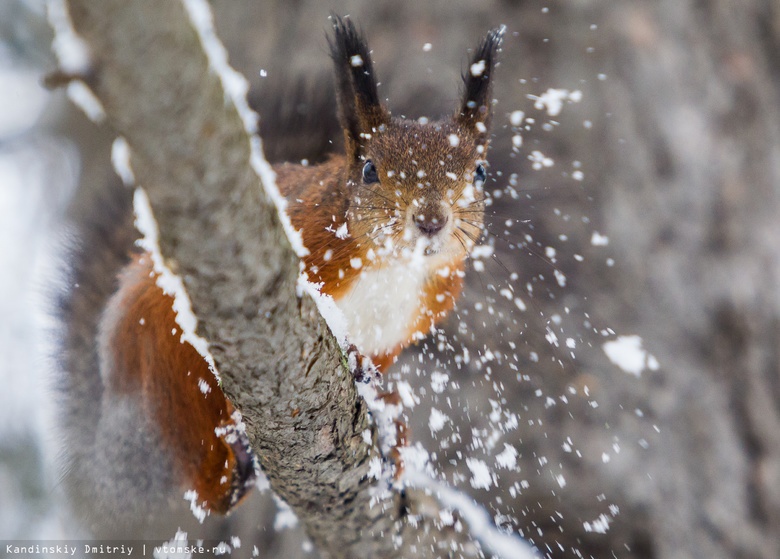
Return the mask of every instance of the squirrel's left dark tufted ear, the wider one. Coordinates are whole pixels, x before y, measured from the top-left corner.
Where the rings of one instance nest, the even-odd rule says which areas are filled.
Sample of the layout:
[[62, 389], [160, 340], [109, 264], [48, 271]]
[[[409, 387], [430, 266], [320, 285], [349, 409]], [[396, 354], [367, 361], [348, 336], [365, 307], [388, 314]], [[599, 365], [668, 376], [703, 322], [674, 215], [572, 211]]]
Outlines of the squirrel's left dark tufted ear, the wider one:
[[328, 38], [336, 70], [339, 119], [347, 155], [358, 158], [362, 144], [390, 119], [379, 101], [374, 68], [366, 40], [349, 19], [333, 14], [333, 38]]

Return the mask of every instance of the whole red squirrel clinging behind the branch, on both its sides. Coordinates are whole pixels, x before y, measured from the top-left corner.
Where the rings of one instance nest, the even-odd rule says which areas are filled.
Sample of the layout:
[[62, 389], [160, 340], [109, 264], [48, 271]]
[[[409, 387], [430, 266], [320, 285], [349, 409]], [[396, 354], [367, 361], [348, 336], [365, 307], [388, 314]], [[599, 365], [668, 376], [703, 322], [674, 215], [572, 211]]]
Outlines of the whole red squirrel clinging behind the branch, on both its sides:
[[[472, 55], [454, 114], [424, 122], [390, 116], [365, 39], [351, 21], [333, 22], [345, 153], [274, 170], [309, 251], [308, 279], [334, 298], [358, 350], [385, 369], [453, 307], [482, 234], [501, 32]], [[150, 255], [134, 244], [130, 194], [107, 196], [87, 214], [73, 287], [60, 301], [66, 477], [97, 526], [164, 511], [188, 490], [198, 506], [225, 513], [252, 487], [254, 455], [206, 361], [182, 342]]]

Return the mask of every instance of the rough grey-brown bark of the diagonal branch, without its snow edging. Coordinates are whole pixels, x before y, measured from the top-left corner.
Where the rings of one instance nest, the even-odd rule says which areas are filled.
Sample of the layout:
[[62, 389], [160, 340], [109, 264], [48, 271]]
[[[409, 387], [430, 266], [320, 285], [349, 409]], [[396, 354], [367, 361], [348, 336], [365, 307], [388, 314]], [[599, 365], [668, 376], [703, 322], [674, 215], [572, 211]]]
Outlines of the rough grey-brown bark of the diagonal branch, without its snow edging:
[[378, 451], [363, 439], [373, 429], [365, 404], [314, 303], [296, 296], [297, 258], [182, 5], [68, 5], [93, 54], [90, 86], [131, 147], [163, 255], [184, 279], [225, 392], [318, 550], [435, 556], [433, 542], [460, 542], [473, 551], [464, 534], [408, 522], [413, 495], [370, 502], [368, 461]]

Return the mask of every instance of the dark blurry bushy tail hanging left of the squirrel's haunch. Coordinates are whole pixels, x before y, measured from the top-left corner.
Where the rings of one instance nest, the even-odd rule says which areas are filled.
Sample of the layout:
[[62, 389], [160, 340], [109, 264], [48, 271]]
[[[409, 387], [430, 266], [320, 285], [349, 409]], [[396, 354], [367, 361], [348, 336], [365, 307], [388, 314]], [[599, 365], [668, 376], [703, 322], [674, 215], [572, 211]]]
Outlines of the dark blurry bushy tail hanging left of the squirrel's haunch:
[[[89, 190], [89, 189], [87, 189]], [[68, 223], [65, 278], [53, 295], [56, 391], [59, 399], [63, 475], [71, 496], [84, 498], [94, 485], [103, 381], [96, 352], [97, 325], [117, 288], [117, 274], [129, 261], [136, 238], [132, 192], [114, 177], [100, 192], [80, 192]]]

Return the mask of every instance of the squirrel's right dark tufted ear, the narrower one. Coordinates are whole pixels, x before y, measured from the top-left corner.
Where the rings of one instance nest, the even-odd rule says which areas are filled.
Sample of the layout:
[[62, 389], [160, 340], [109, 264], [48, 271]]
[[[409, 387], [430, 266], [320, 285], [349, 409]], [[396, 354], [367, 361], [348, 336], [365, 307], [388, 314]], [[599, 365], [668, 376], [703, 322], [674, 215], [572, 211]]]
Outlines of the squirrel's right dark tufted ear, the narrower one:
[[504, 36], [505, 27], [491, 30], [479, 43], [463, 75], [465, 91], [455, 113], [455, 122], [471, 130], [480, 139], [487, 139], [492, 114], [491, 79], [496, 64], [496, 53]]

